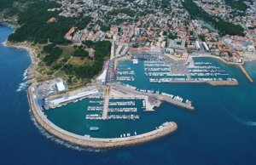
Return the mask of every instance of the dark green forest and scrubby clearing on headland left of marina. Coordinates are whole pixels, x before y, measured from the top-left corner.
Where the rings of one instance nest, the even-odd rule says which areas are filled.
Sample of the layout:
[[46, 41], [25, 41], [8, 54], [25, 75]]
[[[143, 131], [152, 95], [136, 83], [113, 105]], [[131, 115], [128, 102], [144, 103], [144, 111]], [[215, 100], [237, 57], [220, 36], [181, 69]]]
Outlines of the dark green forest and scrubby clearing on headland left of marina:
[[[66, 18], [58, 15], [60, 11], [48, 12], [48, 9], [56, 7], [60, 7], [60, 4], [48, 0], [0, 0], [0, 12], [5, 10], [9, 15], [18, 16], [19, 27], [9, 36], [9, 42], [31, 43], [38, 49], [36, 78], [46, 80], [62, 77], [73, 86], [84, 85], [102, 71], [104, 61], [110, 56], [111, 43], [99, 41], [78, 45], [67, 41], [64, 36], [72, 26], [83, 29], [91, 18], [84, 17], [84, 14]], [[131, 10], [124, 12], [132, 14]], [[55, 17], [56, 21], [47, 22], [51, 17]], [[95, 50], [93, 58], [86, 48]]]

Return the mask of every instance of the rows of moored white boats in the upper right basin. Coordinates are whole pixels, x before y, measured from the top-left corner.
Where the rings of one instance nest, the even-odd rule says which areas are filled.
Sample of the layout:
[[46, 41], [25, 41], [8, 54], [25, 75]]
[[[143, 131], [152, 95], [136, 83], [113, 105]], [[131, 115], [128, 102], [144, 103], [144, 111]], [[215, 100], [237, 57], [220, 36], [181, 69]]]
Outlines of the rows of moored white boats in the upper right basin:
[[144, 61], [144, 71], [150, 83], [236, 83], [236, 79], [220, 67], [210, 62], [194, 62], [193, 58], [187, 64], [173, 62], [167, 65], [161, 60]]

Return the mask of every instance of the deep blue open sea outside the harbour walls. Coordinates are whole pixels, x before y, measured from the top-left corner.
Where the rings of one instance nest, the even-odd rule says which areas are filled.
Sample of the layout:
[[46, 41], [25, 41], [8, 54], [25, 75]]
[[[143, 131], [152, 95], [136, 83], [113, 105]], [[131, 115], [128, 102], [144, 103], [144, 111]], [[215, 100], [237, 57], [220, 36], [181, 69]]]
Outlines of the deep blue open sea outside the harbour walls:
[[[168, 111], [161, 117], [177, 122], [175, 134], [101, 152], [56, 144], [32, 122], [26, 90], [16, 91], [31, 60], [24, 50], [3, 47], [11, 32], [0, 26], [0, 164], [256, 164], [256, 85], [248, 83], [238, 68], [225, 65], [240, 86], [161, 84], [170, 93], [192, 100], [196, 107], [192, 113], [169, 104], [158, 109]], [[256, 65], [249, 63], [246, 68], [256, 80]]]

